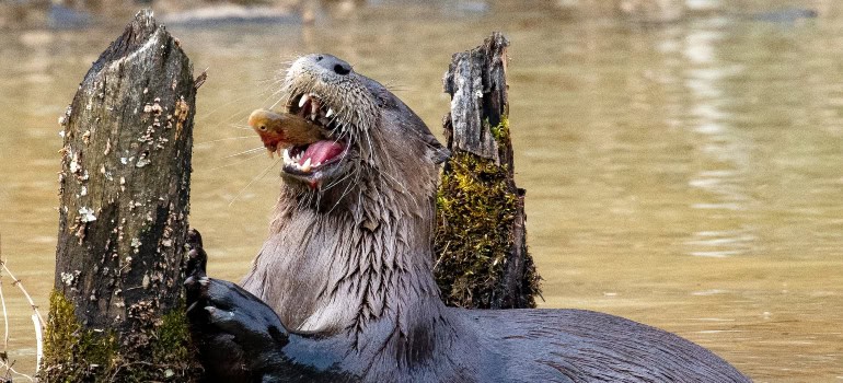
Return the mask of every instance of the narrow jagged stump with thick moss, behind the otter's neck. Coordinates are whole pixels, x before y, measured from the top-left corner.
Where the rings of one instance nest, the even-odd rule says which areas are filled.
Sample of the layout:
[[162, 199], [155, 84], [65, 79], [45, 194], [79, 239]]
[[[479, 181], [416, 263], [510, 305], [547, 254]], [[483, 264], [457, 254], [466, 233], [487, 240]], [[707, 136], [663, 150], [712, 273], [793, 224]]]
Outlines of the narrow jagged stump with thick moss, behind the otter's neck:
[[509, 136], [509, 42], [494, 33], [454, 54], [444, 76], [451, 159], [437, 194], [436, 277], [447, 304], [534, 307], [540, 277], [527, 252], [524, 190], [516, 186]]

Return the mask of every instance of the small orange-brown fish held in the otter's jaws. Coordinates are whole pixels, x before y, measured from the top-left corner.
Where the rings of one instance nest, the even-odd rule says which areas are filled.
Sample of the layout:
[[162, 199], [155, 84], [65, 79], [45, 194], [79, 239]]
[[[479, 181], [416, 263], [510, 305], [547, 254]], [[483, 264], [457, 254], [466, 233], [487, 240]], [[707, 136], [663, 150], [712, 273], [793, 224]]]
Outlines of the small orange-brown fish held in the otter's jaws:
[[249, 126], [274, 156], [281, 148], [313, 143], [323, 138], [319, 125], [289, 113], [256, 109], [249, 116]]

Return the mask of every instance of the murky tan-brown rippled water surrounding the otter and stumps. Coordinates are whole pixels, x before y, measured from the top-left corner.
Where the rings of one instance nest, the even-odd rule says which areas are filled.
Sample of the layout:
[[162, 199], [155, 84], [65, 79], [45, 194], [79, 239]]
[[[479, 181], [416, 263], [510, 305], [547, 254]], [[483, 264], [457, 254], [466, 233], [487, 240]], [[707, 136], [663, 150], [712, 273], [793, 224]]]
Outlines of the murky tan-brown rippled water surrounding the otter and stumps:
[[[275, 101], [284, 62], [346, 58], [438, 132], [451, 53], [499, 30], [512, 43], [510, 120], [543, 305], [669, 329], [759, 382], [843, 381], [843, 5], [804, 2], [820, 14], [794, 23], [730, 9], [642, 25], [545, 2], [476, 4], [377, 5], [308, 28], [170, 28], [197, 73], [209, 68], [190, 223], [211, 274], [238, 280], [265, 236], [278, 166], [234, 154], [258, 147], [241, 128]], [[56, 119], [119, 32], [0, 32], [2, 255], [45, 312]], [[31, 371], [30, 312], [3, 280], [10, 353]]]

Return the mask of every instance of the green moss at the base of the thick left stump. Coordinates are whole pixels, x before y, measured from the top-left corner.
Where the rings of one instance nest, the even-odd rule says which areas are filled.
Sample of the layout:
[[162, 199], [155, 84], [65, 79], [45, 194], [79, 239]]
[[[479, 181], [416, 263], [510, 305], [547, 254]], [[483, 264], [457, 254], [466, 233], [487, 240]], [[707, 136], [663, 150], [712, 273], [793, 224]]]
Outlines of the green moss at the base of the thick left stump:
[[197, 381], [200, 370], [194, 362], [184, 307], [147, 327], [123, 338], [115, 329], [85, 328], [73, 303], [54, 291], [39, 378], [67, 383]]

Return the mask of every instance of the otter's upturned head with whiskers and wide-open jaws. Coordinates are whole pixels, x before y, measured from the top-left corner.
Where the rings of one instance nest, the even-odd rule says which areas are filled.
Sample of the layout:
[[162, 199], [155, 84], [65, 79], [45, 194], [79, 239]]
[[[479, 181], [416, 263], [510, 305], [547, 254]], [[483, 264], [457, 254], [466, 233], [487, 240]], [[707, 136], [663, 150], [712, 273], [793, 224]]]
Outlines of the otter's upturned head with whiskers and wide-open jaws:
[[282, 94], [287, 112], [313, 121], [323, 137], [284, 152], [282, 198], [333, 210], [362, 204], [363, 194], [432, 193], [448, 151], [377, 81], [334, 56], [309, 55], [287, 70]]

